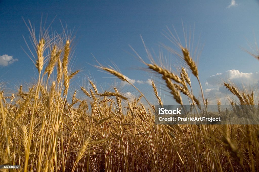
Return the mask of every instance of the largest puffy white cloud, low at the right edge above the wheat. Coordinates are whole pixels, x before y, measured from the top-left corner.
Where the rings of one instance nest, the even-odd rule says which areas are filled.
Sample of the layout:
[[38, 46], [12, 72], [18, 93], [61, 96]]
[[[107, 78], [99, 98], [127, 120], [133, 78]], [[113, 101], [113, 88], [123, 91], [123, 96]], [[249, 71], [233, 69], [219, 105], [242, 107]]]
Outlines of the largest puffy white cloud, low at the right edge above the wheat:
[[206, 83], [205, 95], [210, 99], [223, 98], [231, 93], [223, 86], [223, 81], [233, 83], [236, 86], [251, 88], [259, 83], [259, 72], [243, 73], [239, 70], [228, 70], [210, 76]]

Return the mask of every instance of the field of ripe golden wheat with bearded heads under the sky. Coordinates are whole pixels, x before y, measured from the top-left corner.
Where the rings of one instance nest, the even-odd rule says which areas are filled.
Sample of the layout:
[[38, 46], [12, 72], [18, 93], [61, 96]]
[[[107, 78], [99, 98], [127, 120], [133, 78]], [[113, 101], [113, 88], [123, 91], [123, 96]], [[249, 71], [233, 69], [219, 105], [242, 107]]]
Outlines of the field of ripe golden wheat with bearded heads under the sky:
[[[21, 168], [1, 171], [259, 171], [258, 125], [157, 125], [155, 107], [145, 95], [122, 73], [101, 64], [96, 67], [140, 96], [128, 99], [116, 87], [101, 92], [91, 80], [71, 90], [70, 81], [80, 72], [69, 68], [72, 37], [44, 32], [36, 39], [29, 29], [37, 82], [11, 95], [0, 88], [0, 164]], [[177, 45], [185, 64], [178, 73], [152, 60], [143, 62], [146, 70], [157, 74], [178, 104], [187, 97], [190, 105], [206, 109], [197, 64], [188, 47]], [[193, 95], [191, 82], [199, 83], [200, 98]], [[229, 104], [256, 104], [253, 91], [227, 81], [222, 85], [238, 100]], [[154, 81], [152, 88], [163, 106]]]

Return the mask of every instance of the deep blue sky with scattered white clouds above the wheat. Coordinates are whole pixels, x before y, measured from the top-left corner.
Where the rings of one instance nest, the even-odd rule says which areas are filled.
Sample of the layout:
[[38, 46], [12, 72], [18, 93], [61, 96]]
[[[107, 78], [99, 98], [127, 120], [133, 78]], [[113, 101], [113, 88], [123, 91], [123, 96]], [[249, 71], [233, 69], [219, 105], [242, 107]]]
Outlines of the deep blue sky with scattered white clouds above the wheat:
[[[259, 62], [244, 52], [248, 43], [254, 45], [259, 40], [258, 1], [3, 1], [0, 0], [0, 81], [7, 87], [30, 82], [36, 78], [35, 67], [21, 47], [28, 50], [23, 39], [29, 40], [29, 32], [22, 17], [39, 29], [40, 19], [47, 18], [47, 24], [55, 18], [51, 27], [62, 31], [65, 23], [69, 30], [74, 29], [74, 51], [72, 71], [81, 69], [80, 77], [74, 79], [77, 88], [84, 83], [85, 75], [95, 79], [104, 89], [115, 82], [112, 76], [99, 72], [92, 65], [97, 64], [91, 53], [104, 65], [114, 62], [120, 71], [144, 93], [151, 87], [139, 81], [153, 77], [161, 96], [166, 102], [171, 99], [164, 85], [144, 67], [132, 54], [129, 44], [148, 62], [140, 39], [142, 35], [148, 48], [158, 53], [160, 42], [172, 46], [161, 34], [168, 26], [174, 25], [183, 40], [183, 26], [194, 28], [194, 43], [203, 45], [198, 59], [200, 79], [207, 93], [221, 96], [220, 86], [210, 82], [211, 76], [233, 78], [236, 81], [257, 83]], [[60, 19], [60, 20], [59, 20]], [[183, 40], [184, 41], [184, 40]], [[166, 54], [166, 52], [164, 51]], [[5, 56], [8, 55], [8, 56]], [[8, 57], [8, 58], [7, 58]], [[174, 57], [172, 57], [174, 62]], [[90, 65], [92, 64], [92, 65]], [[177, 63], [171, 64], [172, 66]], [[235, 70], [235, 71], [234, 71]], [[227, 72], [226, 72], [227, 71]], [[218, 73], [218, 75], [217, 75]], [[213, 78], [212, 77], [212, 78]], [[248, 81], [247, 81], [248, 79]], [[133, 80], [134, 82], [134, 80]], [[194, 86], [197, 85], [193, 80]], [[196, 88], [196, 87], [195, 87]], [[199, 95], [198, 88], [195, 93]], [[133, 88], [124, 92], [134, 93]], [[166, 96], [164, 96], [166, 95]], [[209, 94], [207, 95], [210, 96]], [[215, 96], [212, 96], [212, 98]], [[150, 95], [150, 98], [154, 96]], [[155, 100], [155, 98], [154, 98]]]

